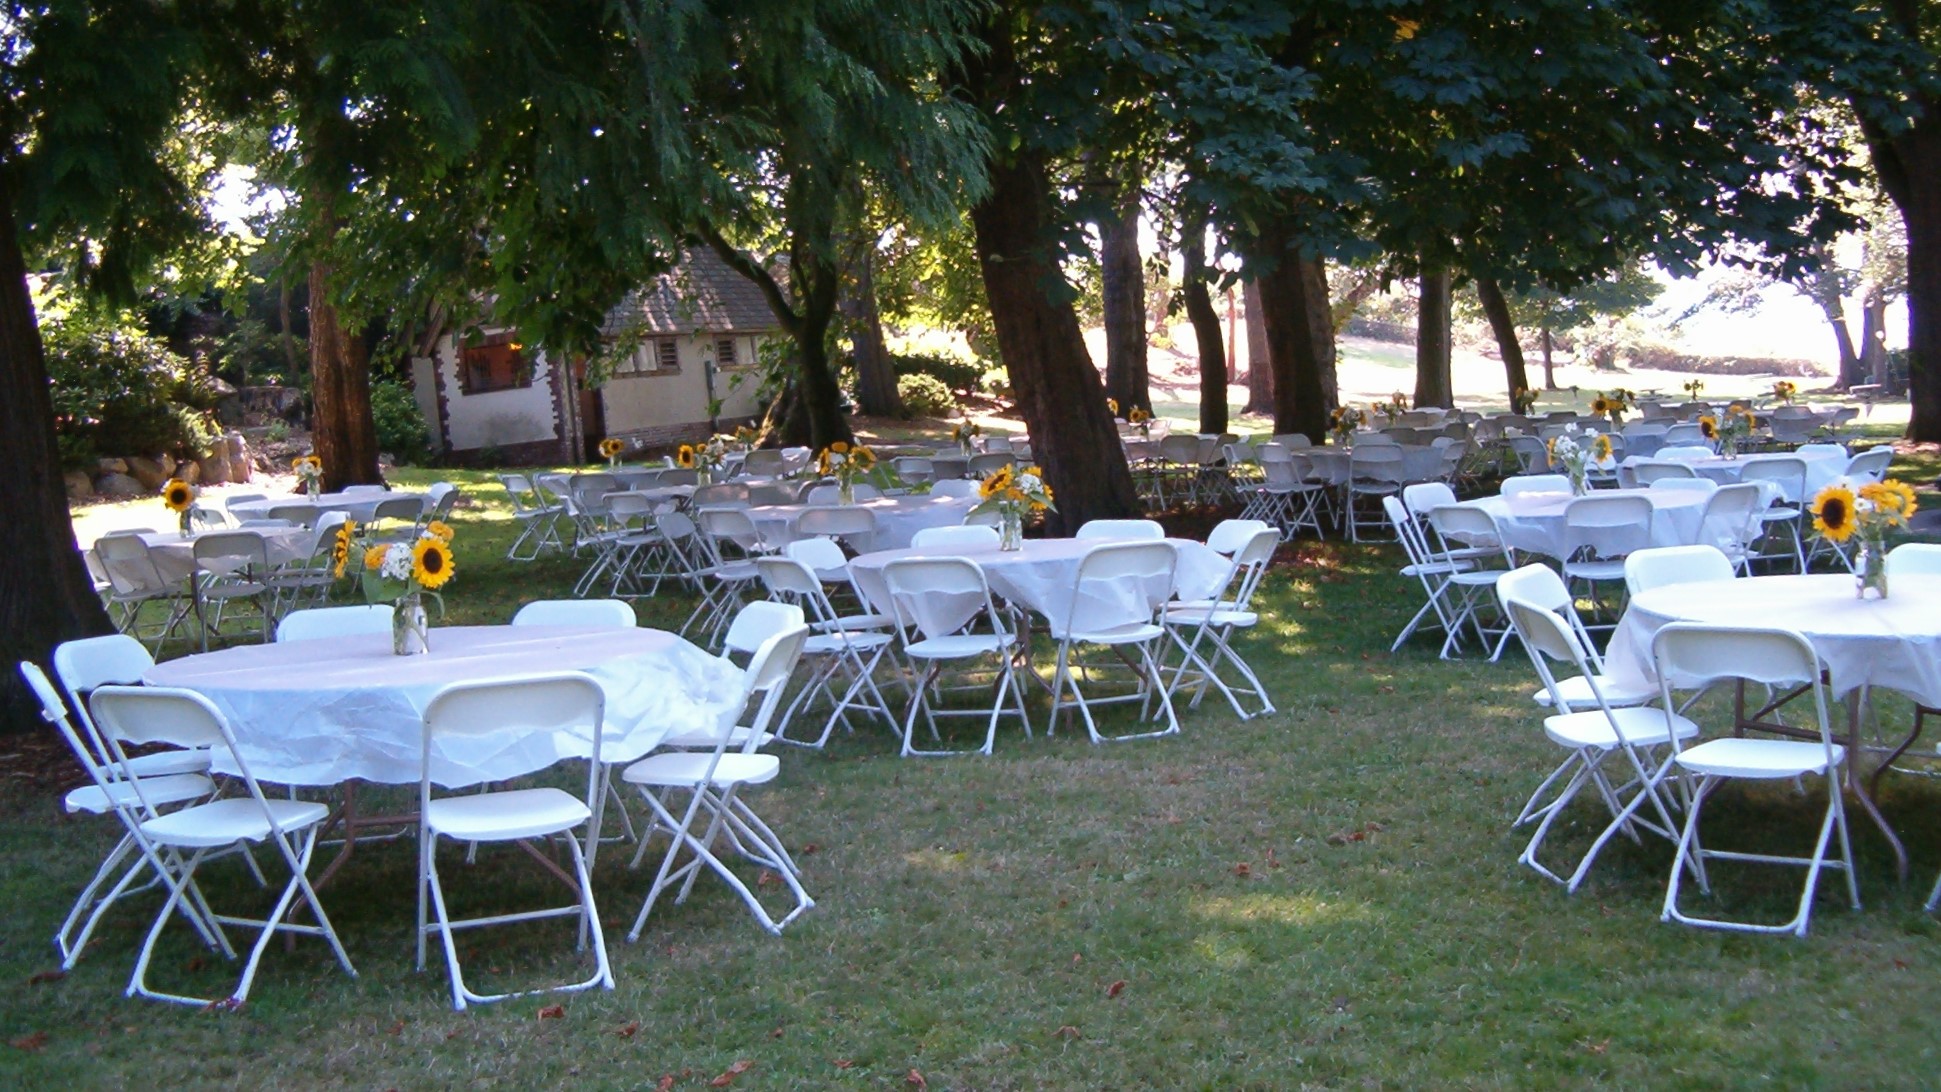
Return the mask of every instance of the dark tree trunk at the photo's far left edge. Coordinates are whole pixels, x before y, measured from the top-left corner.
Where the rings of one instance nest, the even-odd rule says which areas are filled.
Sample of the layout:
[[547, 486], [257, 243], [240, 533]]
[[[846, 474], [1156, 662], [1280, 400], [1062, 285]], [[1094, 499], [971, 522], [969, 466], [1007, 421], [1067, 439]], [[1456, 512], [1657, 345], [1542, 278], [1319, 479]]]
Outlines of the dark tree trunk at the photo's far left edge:
[[[27, 264], [14, 233], [14, 194], [0, 175], [0, 725], [39, 725], [39, 704], [14, 669], [47, 667], [52, 648], [113, 632], [74, 541], [54, 442], [41, 328], [27, 293]], [[155, 500], [161, 508], [161, 500]]]

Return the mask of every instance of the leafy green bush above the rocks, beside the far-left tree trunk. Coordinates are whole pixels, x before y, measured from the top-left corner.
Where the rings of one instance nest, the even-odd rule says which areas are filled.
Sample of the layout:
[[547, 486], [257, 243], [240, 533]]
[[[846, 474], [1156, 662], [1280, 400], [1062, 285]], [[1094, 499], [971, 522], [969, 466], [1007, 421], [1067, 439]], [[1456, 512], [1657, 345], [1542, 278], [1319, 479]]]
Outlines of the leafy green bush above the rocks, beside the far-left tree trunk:
[[200, 456], [219, 434], [210, 374], [165, 343], [74, 312], [45, 326], [54, 434], [68, 469], [103, 456]]

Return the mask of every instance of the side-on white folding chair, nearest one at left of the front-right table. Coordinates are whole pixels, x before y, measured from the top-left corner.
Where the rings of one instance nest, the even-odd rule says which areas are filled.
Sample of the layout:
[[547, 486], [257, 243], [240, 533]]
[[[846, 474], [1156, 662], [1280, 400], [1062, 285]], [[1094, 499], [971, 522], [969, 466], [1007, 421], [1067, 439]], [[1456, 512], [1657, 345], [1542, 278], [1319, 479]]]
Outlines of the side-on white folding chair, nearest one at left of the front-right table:
[[[1524, 640], [1524, 648], [1530, 650], [1530, 659], [1535, 663], [1537, 675], [1543, 679], [1545, 689], [1551, 691], [1551, 710], [1557, 712], [1543, 718], [1543, 733], [1568, 753], [1564, 762], [1543, 778], [1543, 784], [1537, 786], [1537, 791], [1531, 793], [1512, 824], [1514, 828], [1531, 819], [1537, 820], [1530, 844], [1516, 861], [1530, 865], [1539, 875], [1564, 884], [1564, 890], [1574, 892], [1584, 883], [1605, 842], [1613, 836], [1625, 834], [1632, 842], [1638, 842], [1638, 830], [1642, 828], [1665, 840], [1677, 838], [1677, 822], [1671, 819], [1671, 809], [1663, 799], [1663, 776], [1671, 768], [1675, 751], [1667, 749], [1661, 758], [1654, 751], [1667, 747], [1673, 739], [1696, 735], [1698, 725], [1669, 708], [1611, 704], [1597, 687], [1597, 677], [1592, 671], [1586, 648], [1578, 640], [1576, 630], [1543, 605], [1518, 599], [1514, 586], [1500, 594], [1510, 623]], [[1588, 681], [1592, 708], [1563, 712], [1584, 702], [1570, 702], [1568, 694], [1559, 689], [1557, 677], [1551, 673], [1553, 659], [1576, 667], [1578, 677]], [[1607, 760], [1613, 760], [1617, 766], [1615, 776], [1605, 768]], [[1568, 780], [1563, 789], [1549, 797], [1549, 801], [1543, 801], [1543, 793], [1564, 774], [1568, 774]], [[1537, 851], [1543, 848], [1551, 826], [1570, 807], [1570, 801], [1576, 799], [1584, 786], [1597, 789], [1597, 797], [1611, 813], [1611, 820], [1592, 842], [1590, 850], [1584, 851], [1584, 857], [1578, 859], [1576, 869], [1568, 877], [1561, 877], [1537, 859]], [[1650, 805], [1650, 809], [1644, 805]]]

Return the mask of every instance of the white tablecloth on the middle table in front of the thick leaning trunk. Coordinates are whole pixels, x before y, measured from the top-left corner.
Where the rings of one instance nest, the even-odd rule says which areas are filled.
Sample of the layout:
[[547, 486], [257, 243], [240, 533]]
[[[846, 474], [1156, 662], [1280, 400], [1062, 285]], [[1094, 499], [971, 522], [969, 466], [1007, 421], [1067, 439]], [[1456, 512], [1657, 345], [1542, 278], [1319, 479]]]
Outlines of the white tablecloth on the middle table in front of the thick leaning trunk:
[[[1167, 539], [1178, 551], [1178, 564], [1172, 572], [1172, 588], [1180, 599], [1211, 597], [1227, 578], [1231, 562], [1205, 543], [1192, 539]], [[889, 613], [889, 586], [883, 582], [883, 566], [899, 557], [967, 557], [984, 570], [984, 580], [992, 594], [1002, 595], [1021, 607], [1029, 607], [1046, 619], [1066, 619], [1071, 609], [1071, 595], [1077, 590], [1079, 561], [1104, 539], [1025, 539], [1025, 549], [885, 549], [850, 559], [850, 574], [856, 590], [862, 592], [875, 609]], [[939, 603], [928, 619], [932, 628], [957, 628], [980, 607], [980, 603]], [[955, 621], [951, 621], [955, 615]]]

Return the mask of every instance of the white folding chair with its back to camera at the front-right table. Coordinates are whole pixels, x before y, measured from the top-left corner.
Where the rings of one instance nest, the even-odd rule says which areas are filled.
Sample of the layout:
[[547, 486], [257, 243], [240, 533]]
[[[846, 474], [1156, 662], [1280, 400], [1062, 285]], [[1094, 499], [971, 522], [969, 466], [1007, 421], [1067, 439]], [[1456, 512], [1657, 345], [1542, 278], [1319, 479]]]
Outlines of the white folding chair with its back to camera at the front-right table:
[[[1813, 727], [1817, 741], [1805, 739], [1745, 739], [1720, 737], [1706, 739], [1694, 747], [1679, 747], [1673, 741], [1673, 760], [1683, 774], [1679, 793], [1685, 799], [1685, 830], [1679, 834], [1679, 853], [1671, 863], [1671, 883], [1665, 886], [1663, 921], [1681, 921], [1706, 929], [1731, 929], [1739, 933], [1792, 933], [1807, 935], [1813, 917], [1813, 892], [1819, 886], [1821, 869], [1844, 869], [1846, 892], [1854, 910], [1859, 910], [1859, 883], [1854, 879], [1854, 848], [1846, 830], [1846, 807], [1840, 797], [1840, 766], [1846, 762], [1846, 747], [1832, 741], [1832, 727], [1826, 720], [1826, 689], [1821, 683], [1825, 663], [1807, 644], [1807, 638], [1792, 630], [1757, 626], [1702, 626], [1693, 623], [1671, 623], [1652, 638], [1652, 659], [1658, 665], [1661, 702], [1665, 716], [1677, 716], [1671, 691], [1706, 689], [1716, 683], [1760, 683], [1774, 689], [1803, 689], [1813, 692]], [[1731, 778], [1778, 782], [1805, 776], [1826, 780], [1826, 813], [1821, 820], [1819, 840], [1811, 857], [1784, 857], [1774, 853], [1741, 853], [1729, 850], [1706, 850], [1698, 840], [1698, 820], [1704, 803], [1722, 784]], [[1840, 859], [1826, 859], [1826, 844], [1832, 832], [1840, 832]], [[1799, 910], [1784, 925], [1755, 925], [1747, 921], [1726, 921], [1720, 917], [1694, 917], [1679, 908], [1679, 886], [1685, 871], [1691, 869], [1698, 881], [1698, 890], [1710, 894], [1712, 884], [1706, 875], [1706, 861], [1755, 861], [1766, 865], [1803, 865], [1807, 869], [1805, 888], [1799, 892]]]

